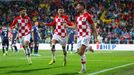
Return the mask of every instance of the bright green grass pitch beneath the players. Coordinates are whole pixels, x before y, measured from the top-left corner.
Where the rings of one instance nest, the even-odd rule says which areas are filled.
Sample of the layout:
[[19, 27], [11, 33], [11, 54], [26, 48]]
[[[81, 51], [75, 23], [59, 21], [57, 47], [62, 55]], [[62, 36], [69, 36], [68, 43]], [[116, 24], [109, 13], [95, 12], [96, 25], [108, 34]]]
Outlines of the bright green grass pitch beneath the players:
[[[56, 63], [48, 65], [51, 60], [50, 50], [39, 51], [41, 56], [32, 56], [32, 65], [28, 65], [24, 52], [0, 52], [0, 75], [79, 75], [80, 57], [68, 53], [67, 65], [63, 67], [63, 53], [56, 51]], [[87, 52], [87, 75], [104, 69], [134, 62], [134, 51], [95, 51]], [[134, 65], [113, 69], [97, 75], [134, 75]]]

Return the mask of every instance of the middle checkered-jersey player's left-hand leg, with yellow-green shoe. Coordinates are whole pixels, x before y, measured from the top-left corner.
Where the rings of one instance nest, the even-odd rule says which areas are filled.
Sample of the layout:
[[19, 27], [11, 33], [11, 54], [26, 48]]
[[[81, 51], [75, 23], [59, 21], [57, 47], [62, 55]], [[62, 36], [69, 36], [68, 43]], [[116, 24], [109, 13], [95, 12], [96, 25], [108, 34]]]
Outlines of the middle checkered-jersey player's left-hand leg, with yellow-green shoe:
[[59, 38], [58, 35], [56, 35], [56, 34], [53, 35], [53, 38], [52, 38], [52, 47], [51, 47], [52, 59], [49, 62], [49, 65], [55, 63], [55, 45], [56, 45], [56, 42], [57, 42], [58, 38]]

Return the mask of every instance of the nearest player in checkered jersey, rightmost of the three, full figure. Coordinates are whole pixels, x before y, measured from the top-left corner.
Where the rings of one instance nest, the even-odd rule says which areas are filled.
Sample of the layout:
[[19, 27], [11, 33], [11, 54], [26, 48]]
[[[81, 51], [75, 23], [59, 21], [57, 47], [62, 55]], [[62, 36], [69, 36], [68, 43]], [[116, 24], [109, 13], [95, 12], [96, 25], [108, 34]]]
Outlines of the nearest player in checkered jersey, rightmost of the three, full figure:
[[85, 4], [83, 2], [78, 2], [76, 4], [76, 10], [78, 13], [78, 15], [76, 16], [76, 24], [73, 26], [66, 25], [66, 27], [69, 28], [77, 27], [78, 30], [77, 49], [78, 54], [81, 57], [81, 64], [82, 64], [82, 68], [79, 73], [84, 73], [86, 72], [85, 49], [88, 46], [91, 37], [90, 28], [93, 29], [95, 40], [97, 40], [97, 34], [94, 22], [92, 20], [92, 16], [86, 11]]

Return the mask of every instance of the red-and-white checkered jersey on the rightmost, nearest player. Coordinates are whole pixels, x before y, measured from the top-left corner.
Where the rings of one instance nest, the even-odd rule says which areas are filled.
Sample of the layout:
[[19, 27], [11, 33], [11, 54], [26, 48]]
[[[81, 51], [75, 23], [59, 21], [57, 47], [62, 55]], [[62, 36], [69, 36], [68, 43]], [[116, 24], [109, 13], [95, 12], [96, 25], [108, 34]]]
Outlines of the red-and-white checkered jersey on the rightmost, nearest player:
[[90, 35], [90, 25], [93, 24], [92, 17], [85, 12], [76, 17], [76, 24], [78, 30], [78, 37], [85, 37]]

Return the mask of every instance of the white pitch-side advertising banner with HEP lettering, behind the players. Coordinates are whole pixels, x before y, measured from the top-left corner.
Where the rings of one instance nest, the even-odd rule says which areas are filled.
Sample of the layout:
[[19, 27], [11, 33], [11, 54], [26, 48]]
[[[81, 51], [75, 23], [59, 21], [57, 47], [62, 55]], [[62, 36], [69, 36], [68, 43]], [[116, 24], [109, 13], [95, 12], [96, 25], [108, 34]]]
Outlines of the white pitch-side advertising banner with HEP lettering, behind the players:
[[[21, 44], [16, 44], [18, 49], [23, 49]], [[77, 45], [73, 45], [73, 50], [77, 49]], [[131, 50], [134, 51], [134, 44], [89, 44], [89, 47], [92, 47], [94, 50]], [[0, 45], [2, 49], [2, 45]], [[62, 50], [60, 44], [56, 44], [56, 50]], [[40, 50], [50, 50], [50, 44], [39, 44]], [[71, 49], [71, 45], [69, 45], [69, 50]], [[88, 49], [88, 48], [87, 48]]]

